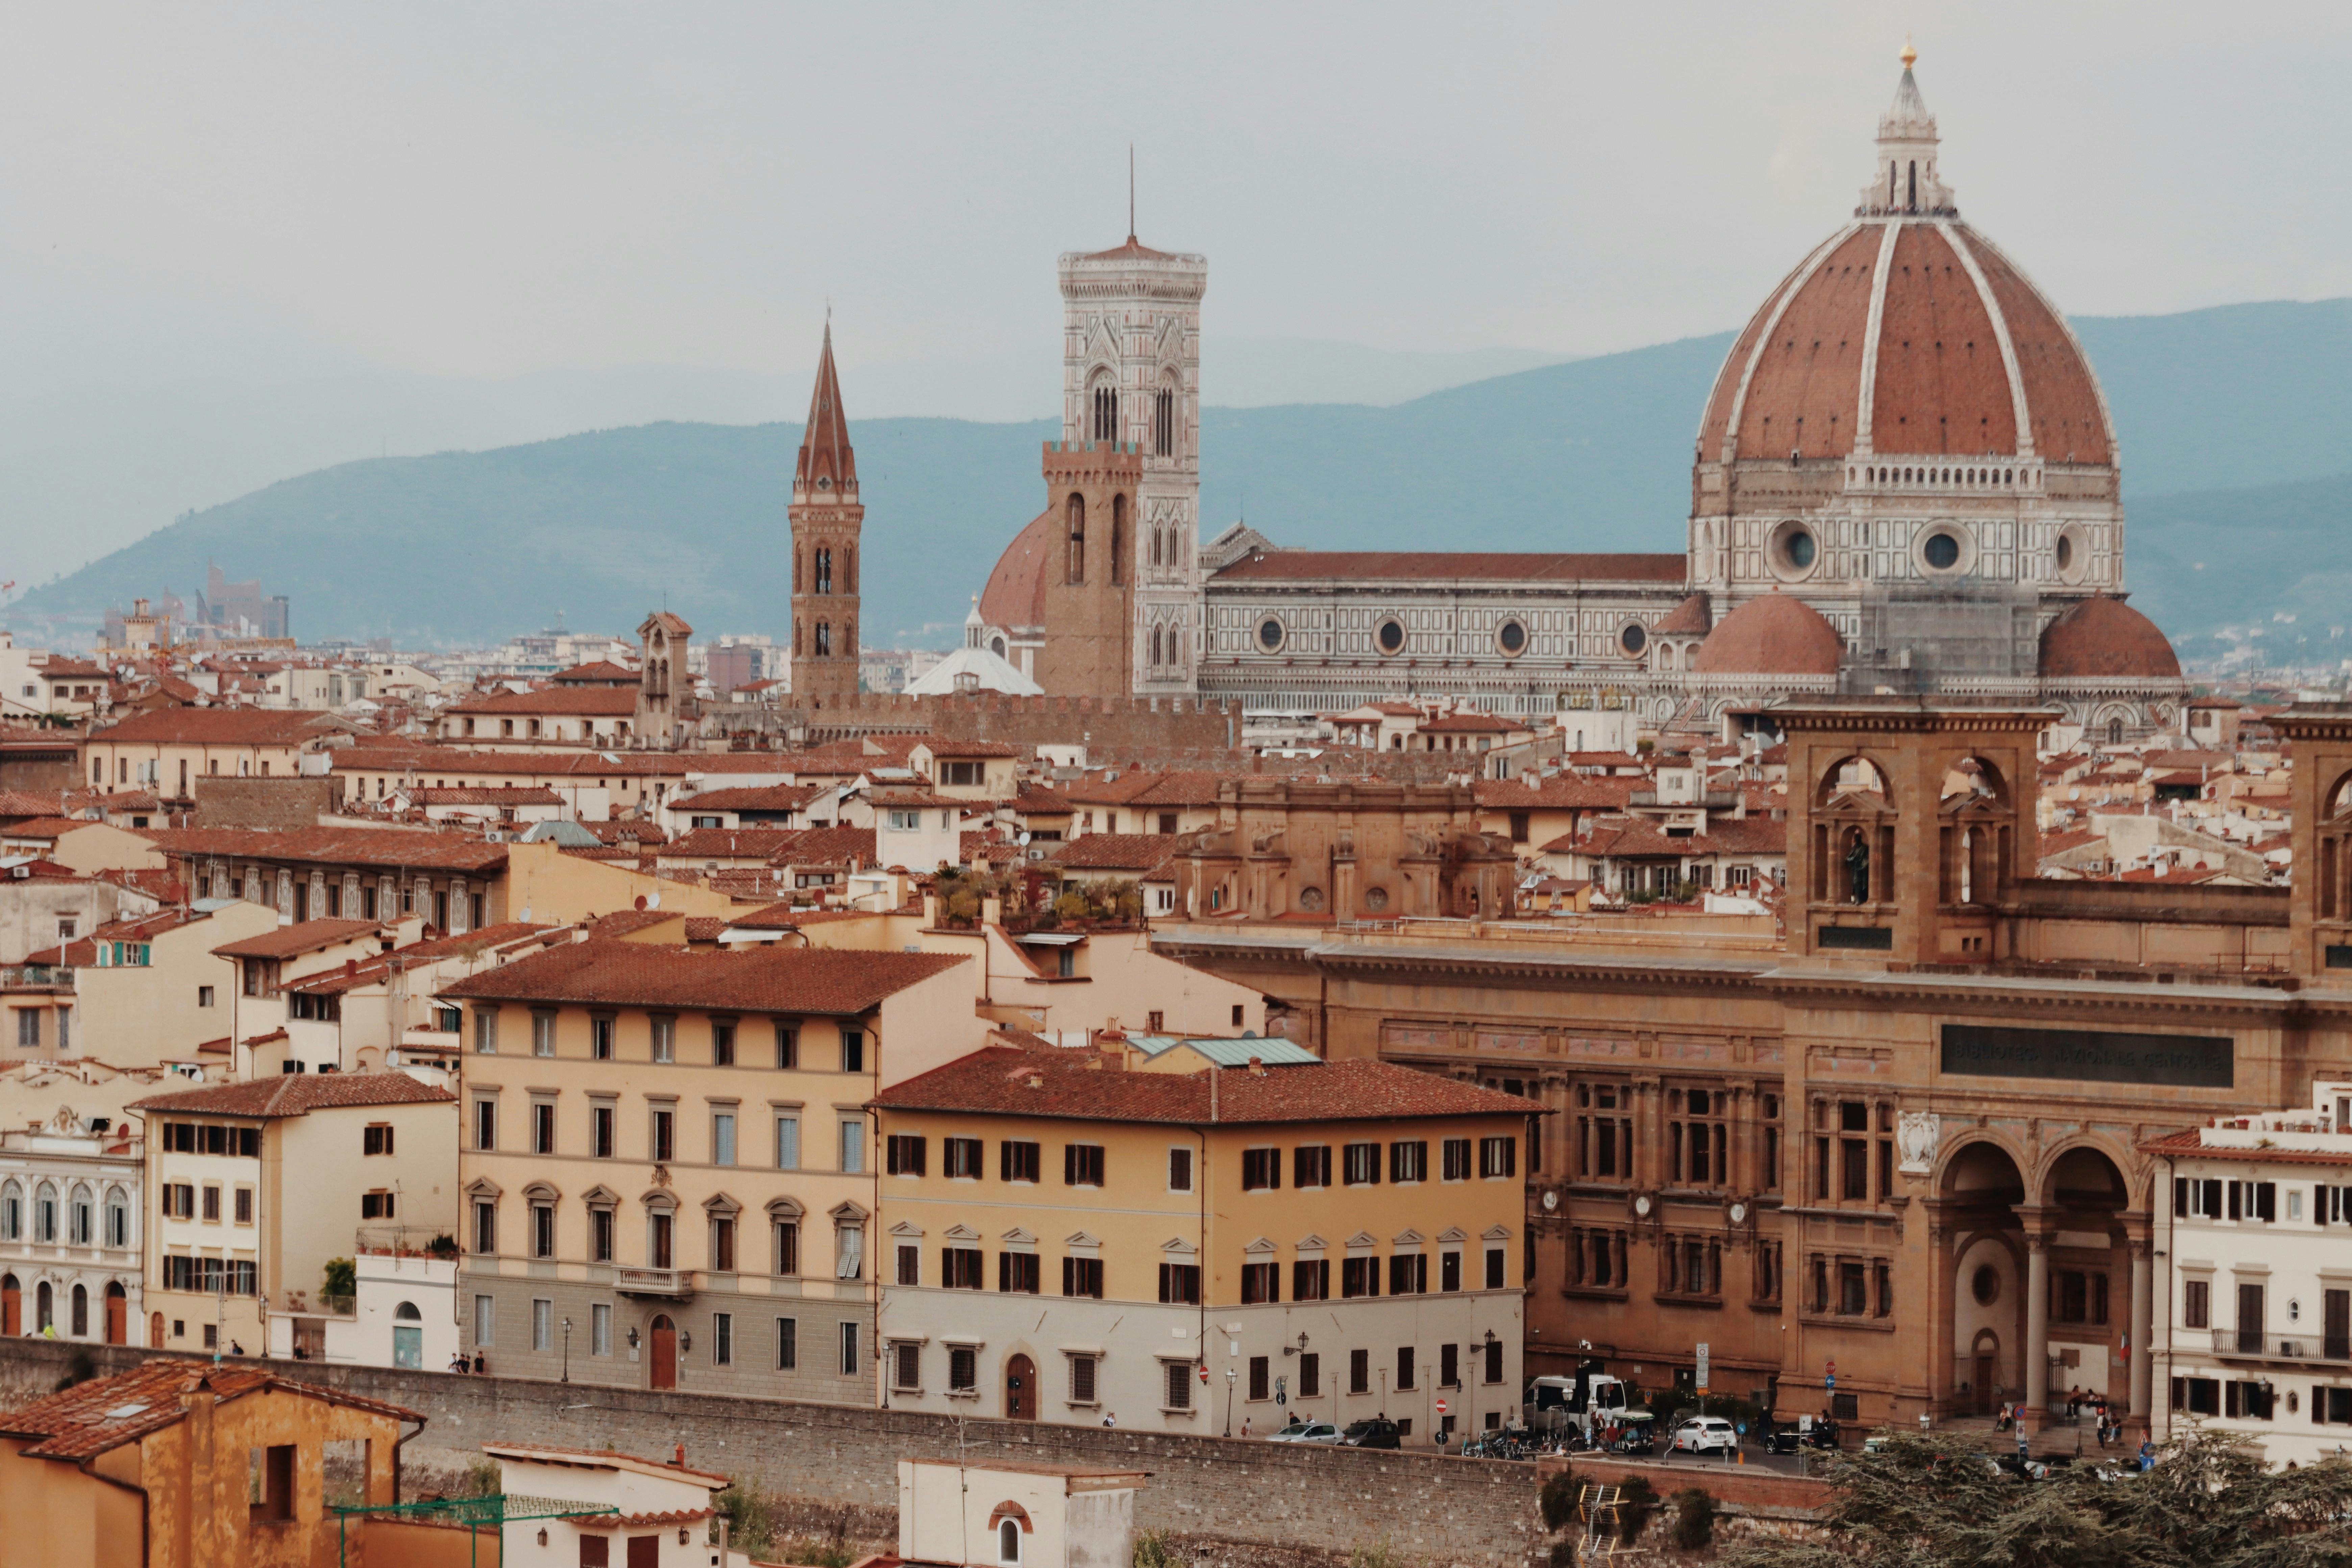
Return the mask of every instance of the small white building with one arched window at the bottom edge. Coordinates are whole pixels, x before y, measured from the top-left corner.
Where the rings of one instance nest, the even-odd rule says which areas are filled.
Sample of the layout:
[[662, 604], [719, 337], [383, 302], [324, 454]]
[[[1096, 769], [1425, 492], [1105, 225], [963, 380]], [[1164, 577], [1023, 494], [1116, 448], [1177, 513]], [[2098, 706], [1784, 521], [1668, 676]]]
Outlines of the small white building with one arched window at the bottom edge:
[[1129, 1568], [1145, 1474], [898, 1460], [898, 1556], [964, 1568]]

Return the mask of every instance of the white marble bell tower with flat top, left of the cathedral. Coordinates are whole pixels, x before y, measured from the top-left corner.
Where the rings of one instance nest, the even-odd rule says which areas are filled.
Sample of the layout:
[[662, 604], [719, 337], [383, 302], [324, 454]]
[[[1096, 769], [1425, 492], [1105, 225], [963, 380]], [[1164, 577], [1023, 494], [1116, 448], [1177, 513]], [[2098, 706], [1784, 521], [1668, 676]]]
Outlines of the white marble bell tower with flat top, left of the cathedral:
[[[1101, 590], [1120, 599], [1115, 635], [1127, 642], [1124, 656], [1089, 658], [1101, 675], [1124, 668], [1124, 682], [1105, 696], [1190, 696], [1200, 686], [1200, 299], [1207, 289], [1207, 256], [1155, 252], [1131, 233], [1115, 249], [1061, 259], [1061, 449], [1108, 444], [1134, 451], [1143, 465], [1134, 517], [1108, 520], [1112, 529], [1098, 529], [1094, 541]], [[1047, 480], [1054, 489], [1056, 477]], [[1063, 491], [1068, 487], [1054, 489], [1049, 503], [1068, 505]], [[1047, 679], [1047, 691], [1061, 686]]]

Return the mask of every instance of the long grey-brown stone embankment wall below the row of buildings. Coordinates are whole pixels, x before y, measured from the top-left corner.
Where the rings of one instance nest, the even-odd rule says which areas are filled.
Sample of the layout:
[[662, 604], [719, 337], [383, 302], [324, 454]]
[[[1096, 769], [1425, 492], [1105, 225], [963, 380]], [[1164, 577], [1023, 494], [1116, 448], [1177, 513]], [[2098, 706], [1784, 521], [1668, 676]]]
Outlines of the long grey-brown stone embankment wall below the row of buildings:
[[[198, 1356], [0, 1340], [0, 1408], [47, 1394], [78, 1356], [96, 1375], [151, 1359], [209, 1366]], [[256, 1359], [240, 1359], [254, 1366]], [[616, 1448], [748, 1476], [764, 1490], [811, 1502], [858, 1502], [896, 1512], [898, 1460], [953, 1460], [1148, 1469], [1136, 1523], [1268, 1547], [1345, 1552], [1388, 1540], [1432, 1563], [1522, 1568], [1543, 1544], [1536, 1467], [1432, 1453], [1367, 1453], [1047, 1422], [957, 1422], [903, 1410], [654, 1394], [579, 1382], [402, 1373], [318, 1361], [266, 1361], [273, 1371], [426, 1418], [402, 1455], [409, 1465], [463, 1469], [482, 1443]]]

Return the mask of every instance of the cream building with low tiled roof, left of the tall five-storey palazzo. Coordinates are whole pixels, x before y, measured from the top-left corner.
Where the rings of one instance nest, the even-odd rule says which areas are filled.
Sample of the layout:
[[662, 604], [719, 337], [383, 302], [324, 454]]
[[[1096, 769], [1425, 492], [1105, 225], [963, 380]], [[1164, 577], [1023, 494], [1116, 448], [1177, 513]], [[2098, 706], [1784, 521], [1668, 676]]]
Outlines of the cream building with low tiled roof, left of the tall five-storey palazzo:
[[348, 1316], [329, 1258], [456, 1229], [456, 1095], [405, 1072], [282, 1074], [148, 1095], [151, 1349], [261, 1354], [261, 1298]]

